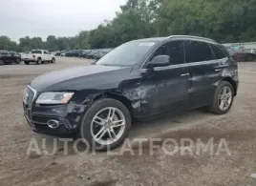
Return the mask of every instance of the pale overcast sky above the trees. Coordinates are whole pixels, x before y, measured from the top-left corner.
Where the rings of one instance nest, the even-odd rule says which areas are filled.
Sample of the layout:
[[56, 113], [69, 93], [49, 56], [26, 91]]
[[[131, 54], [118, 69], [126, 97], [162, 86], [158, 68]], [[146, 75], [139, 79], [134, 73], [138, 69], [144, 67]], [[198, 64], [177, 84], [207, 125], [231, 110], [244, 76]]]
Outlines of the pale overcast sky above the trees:
[[74, 36], [115, 17], [127, 0], [0, 0], [0, 35]]

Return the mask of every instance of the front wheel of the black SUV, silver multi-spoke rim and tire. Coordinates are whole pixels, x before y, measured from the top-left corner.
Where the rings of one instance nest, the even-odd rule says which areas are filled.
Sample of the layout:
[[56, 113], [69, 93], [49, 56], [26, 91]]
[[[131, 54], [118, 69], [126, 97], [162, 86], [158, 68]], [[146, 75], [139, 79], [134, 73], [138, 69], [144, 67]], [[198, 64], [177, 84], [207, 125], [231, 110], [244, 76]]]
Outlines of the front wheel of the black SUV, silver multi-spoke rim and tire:
[[131, 114], [116, 99], [97, 100], [86, 112], [80, 125], [80, 136], [98, 151], [113, 150], [127, 137]]

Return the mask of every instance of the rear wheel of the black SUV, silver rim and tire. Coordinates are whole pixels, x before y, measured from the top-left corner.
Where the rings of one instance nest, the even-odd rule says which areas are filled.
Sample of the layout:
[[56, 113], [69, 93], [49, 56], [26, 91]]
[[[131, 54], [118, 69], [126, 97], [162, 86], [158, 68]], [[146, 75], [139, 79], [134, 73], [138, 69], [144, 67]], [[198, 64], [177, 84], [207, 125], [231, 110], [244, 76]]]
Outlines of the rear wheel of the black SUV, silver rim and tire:
[[222, 81], [214, 93], [209, 110], [214, 114], [226, 114], [232, 107], [234, 89], [227, 81]]

